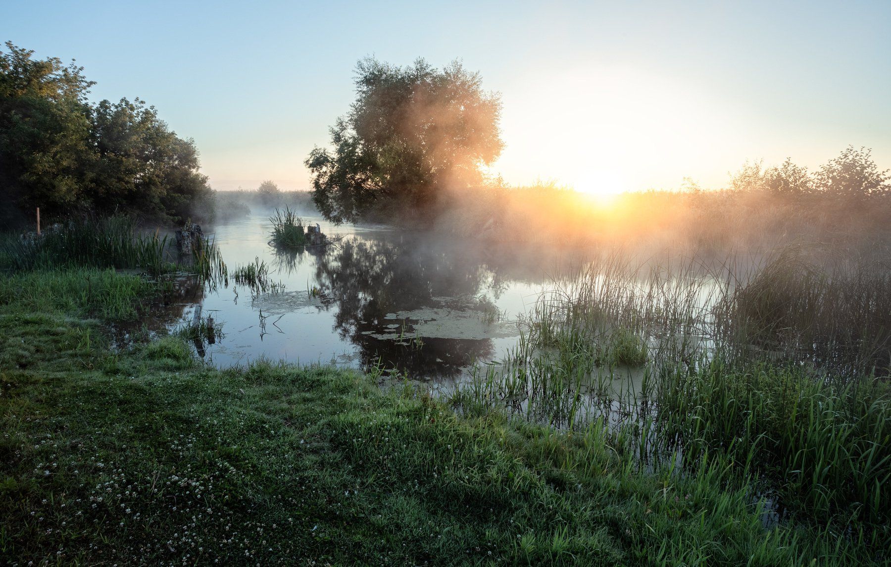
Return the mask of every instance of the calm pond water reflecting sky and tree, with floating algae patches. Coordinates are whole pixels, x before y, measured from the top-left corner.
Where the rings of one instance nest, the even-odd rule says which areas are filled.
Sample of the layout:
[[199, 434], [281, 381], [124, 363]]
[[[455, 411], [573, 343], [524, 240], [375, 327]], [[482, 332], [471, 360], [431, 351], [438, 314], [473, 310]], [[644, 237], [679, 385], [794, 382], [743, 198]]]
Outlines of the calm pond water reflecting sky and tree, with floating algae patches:
[[184, 292], [168, 306], [168, 328], [187, 325], [200, 306], [217, 329], [196, 343], [218, 366], [258, 357], [367, 368], [380, 364], [414, 380], [457, 379], [476, 362], [503, 357], [519, 340], [519, 318], [541, 292], [581, 262], [546, 249], [442, 242], [389, 226], [318, 223], [333, 244], [276, 251], [268, 218], [205, 226], [230, 274], [259, 259], [266, 292], [247, 285]]

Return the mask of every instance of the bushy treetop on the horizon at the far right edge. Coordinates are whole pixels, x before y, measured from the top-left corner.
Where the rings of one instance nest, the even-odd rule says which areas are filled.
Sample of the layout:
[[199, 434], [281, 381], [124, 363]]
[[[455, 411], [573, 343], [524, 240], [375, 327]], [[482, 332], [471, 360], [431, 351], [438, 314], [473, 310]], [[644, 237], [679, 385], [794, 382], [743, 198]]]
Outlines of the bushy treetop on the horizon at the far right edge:
[[879, 171], [871, 153], [868, 148], [855, 150], [853, 145], [847, 146], [838, 158], [830, 160], [817, 172], [819, 189], [853, 199], [891, 194], [889, 170]]

